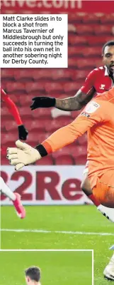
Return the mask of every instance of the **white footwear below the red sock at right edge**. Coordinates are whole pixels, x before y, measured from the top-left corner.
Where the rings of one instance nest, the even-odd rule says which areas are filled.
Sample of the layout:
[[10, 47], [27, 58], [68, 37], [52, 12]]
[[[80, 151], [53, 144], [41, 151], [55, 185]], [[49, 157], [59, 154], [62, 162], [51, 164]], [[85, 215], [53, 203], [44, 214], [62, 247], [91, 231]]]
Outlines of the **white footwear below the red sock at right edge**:
[[108, 208], [103, 205], [99, 205], [97, 207], [98, 211], [100, 211], [107, 219], [110, 219], [111, 222], [114, 222], [114, 209]]

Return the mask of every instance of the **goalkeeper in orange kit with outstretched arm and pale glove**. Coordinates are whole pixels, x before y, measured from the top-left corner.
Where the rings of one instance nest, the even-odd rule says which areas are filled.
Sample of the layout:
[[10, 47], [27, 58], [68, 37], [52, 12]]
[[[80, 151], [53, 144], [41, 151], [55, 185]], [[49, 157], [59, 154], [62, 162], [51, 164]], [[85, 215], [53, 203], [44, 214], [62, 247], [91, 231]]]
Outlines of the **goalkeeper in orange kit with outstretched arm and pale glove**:
[[88, 131], [89, 183], [91, 194], [103, 206], [114, 207], [114, 88], [91, 100], [69, 125], [60, 128], [47, 140], [30, 147], [19, 140], [9, 147], [7, 158], [20, 170], [24, 165], [40, 160], [74, 142]]

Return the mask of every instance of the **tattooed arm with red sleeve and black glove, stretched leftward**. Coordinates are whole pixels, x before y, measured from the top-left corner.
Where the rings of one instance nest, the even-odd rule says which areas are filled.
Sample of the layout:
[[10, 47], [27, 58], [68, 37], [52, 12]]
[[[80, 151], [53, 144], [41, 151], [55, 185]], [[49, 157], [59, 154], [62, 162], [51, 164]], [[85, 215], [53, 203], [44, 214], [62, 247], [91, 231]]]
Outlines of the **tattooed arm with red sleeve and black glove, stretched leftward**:
[[91, 71], [84, 82], [84, 86], [74, 95], [74, 97], [56, 99], [50, 97], [35, 97], [33, 104], [30, 106], [31, 110], [37, 108], [55, 107], [59, 110], [72, 111], [80, 110], [93, 98], [96, 90], [93, 83], [96, 78], [96, 70]]

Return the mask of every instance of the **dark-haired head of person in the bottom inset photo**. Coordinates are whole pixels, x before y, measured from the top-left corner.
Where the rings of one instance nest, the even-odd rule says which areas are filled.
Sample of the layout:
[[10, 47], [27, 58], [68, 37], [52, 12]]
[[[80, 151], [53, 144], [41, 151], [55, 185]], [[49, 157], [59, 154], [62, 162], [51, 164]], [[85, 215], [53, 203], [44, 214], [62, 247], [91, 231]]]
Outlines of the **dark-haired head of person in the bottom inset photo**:
[[27, 285], [41, 285], [40, 277], [40, 269], [36, 266], [31, 266], [25, 270], [25, 282]]

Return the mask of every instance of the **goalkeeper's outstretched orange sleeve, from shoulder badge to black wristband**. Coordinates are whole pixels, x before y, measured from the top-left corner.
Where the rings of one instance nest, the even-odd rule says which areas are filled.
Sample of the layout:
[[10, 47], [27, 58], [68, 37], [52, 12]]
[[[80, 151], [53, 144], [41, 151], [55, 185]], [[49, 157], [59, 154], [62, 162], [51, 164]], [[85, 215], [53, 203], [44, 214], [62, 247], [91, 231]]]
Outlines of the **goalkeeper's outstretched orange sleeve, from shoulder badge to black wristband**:
[[[90, 111], [92, 111], [92, 113], [89, 113]], [[92, 128], [93, 125], [103, 121], [103, 116], [102, 103], [100, 105], [96, 100], [92, 100], [71, 124], [57, 130], [36, 148], [40, 151], [40, 147], [44, 147], [47, 154], [55, 152], [56, 150], [74, 142], [74, 140]], [[43, 153], [40, 152], [40, 155], [42, 156]]]

